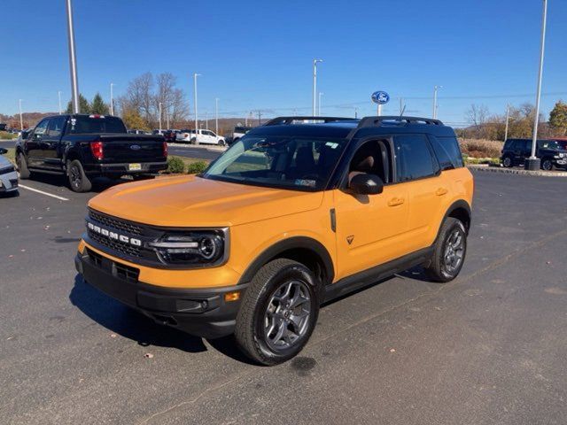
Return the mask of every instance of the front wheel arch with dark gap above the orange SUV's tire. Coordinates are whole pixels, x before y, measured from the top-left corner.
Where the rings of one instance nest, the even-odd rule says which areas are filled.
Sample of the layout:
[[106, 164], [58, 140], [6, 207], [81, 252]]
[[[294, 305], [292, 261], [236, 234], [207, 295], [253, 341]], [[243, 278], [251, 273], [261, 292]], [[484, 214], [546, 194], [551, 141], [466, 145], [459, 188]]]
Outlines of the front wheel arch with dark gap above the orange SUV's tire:
[[239, 284], [250, 282], [261, 267], [273, 259], [293, 259], [308, 267], [322, 282], [322, 288], [333, 281], [335, 271], [329, 251], [312, 237], [293, 236], [271, 245], [246, 267]]

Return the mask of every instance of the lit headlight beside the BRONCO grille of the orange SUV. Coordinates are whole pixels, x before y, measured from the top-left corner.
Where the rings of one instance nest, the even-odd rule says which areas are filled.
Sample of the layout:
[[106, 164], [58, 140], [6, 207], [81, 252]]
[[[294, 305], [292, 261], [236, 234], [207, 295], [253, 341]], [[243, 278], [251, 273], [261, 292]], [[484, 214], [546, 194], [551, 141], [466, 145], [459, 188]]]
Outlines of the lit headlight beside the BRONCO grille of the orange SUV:
[[228, 235], [226, 228], [168, 232], [150, 246], [166, 264], [216, 266], [228, 257]]

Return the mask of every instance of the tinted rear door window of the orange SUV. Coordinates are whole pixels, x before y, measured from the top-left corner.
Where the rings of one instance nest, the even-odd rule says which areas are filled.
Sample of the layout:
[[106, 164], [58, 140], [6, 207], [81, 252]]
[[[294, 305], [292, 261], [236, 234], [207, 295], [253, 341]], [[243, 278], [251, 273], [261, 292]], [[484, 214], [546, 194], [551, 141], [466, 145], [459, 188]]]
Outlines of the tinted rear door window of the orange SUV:
[[439, 166], [424, 135], [396, 135], [393, 138], [398, 182], [431, 177]]

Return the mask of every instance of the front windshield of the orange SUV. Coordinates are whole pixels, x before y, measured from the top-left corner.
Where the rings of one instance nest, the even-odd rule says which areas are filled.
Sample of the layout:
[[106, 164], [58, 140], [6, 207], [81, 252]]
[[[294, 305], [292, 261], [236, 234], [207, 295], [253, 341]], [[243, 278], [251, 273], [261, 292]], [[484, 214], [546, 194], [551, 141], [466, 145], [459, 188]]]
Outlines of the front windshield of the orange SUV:
[[203, 177], [283, 189], [322, 190], [345, 139], [246, 135], [230, 146]]

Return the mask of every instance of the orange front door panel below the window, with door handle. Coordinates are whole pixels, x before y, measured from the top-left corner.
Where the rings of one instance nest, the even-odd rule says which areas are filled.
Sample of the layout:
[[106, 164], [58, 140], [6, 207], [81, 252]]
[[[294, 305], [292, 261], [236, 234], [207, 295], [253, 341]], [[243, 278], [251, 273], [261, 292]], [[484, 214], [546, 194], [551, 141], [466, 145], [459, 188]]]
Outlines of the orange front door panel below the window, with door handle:
[[408, 231], [406, 185], [384, 186], [379, 195], [333, 191], [337, 217], [338, 279], [408, 253], [400, 237]]

